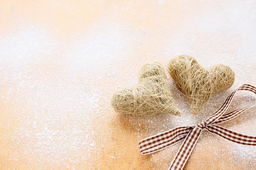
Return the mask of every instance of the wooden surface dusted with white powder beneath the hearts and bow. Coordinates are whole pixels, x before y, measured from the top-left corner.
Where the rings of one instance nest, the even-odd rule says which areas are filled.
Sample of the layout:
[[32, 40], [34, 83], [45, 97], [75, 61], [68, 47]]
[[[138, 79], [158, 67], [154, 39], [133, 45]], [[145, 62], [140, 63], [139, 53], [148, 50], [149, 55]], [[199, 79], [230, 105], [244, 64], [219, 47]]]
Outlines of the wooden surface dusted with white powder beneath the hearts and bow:
[[[239, 85], [256, 85], [254, 1], [0, 0], [0, 169], [166, 170], [181, 143], [148, 156], [138, 142], [203, 121]], [[137, 84], [145, 62], [187, 54], [229, 65], [232, 88], [193, 115], [118, 115], [112, 94]], [[252, 104], [240, 93], [230, 110]], [[256, 108], [222, 126], [256, 135]], [[256, 147], [203, 132], [187, 170], [256, 169]]]

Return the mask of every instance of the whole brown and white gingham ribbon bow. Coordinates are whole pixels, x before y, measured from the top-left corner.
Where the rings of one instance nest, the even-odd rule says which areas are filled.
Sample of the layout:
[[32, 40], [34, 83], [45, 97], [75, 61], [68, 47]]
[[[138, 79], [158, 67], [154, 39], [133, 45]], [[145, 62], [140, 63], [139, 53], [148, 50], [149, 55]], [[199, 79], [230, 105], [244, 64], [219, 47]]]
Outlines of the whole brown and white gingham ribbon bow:
[[198, 125], [176, 127], [166, 132], [143, 139], [139, 143], [140, 153], [142, 155], [154, 153], [185, 139], [175, 158], [173, 159], [171, 166], [169, 167], [169, 170], [182, 170], [190, 154], [192, 153], [196, 142], [201, 136], [203, 129], [208, 130], [211, 133], [215, 133], [232, 142], [246, 145], [256, 145], [256, 137], [242, 135], [216, 125], [227, 122], [238, 116], [240, 113], [243, 113], [256, 105], [256, 103], [254, 103], [253, 105], [245, 106], [232, 112], [225, 113], [227, 108], [230, 106], [234, 95], [239, 90], [252, 91], [254, 94], [256, 94], [256, 88], [252, 85], [241, 85], [226, 99], [218, 111], [208, 116], [206, 121], [201, 122]]

